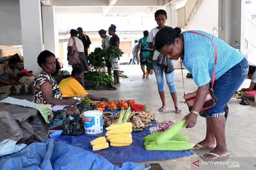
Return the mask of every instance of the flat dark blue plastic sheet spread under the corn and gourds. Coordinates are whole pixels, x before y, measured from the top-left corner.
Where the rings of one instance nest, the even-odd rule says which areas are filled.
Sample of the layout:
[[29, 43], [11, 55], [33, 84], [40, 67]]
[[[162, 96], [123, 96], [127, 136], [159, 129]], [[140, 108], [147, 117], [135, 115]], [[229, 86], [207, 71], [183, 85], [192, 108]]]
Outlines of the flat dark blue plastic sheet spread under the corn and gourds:
[[[155, 121], [152, 122], [156, 124]], [[123, 163], [123, 162], [141, 162], [147, 160], [164, 160], [164, 159], [177, 159], [180, 157], [188, 157], [193, 153], [190, 150], [184, 151], [147, 151], [144, 149], [143, 138], [150, 134], [149, 128], [144, 129], [141, 132], [132, 132], [133, 143], [127, 147], [109, 147], [99, 151], [92, 151], [90, 141], [104, 136], [106, 133], [105, 127], [103, 133], [97, 135], [83, 134], [79, 136], [59, 136], [56, 139], [59, 142], [77, 146], [94, 152], [108, 159], [112, 164]]]

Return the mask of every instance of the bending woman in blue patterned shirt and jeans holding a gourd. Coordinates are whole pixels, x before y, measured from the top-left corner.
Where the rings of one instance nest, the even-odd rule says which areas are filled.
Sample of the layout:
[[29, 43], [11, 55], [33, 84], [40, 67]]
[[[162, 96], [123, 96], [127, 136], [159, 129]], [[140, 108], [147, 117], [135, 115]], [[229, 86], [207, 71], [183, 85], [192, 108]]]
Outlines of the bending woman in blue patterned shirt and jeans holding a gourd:
[[206, 110], [206, 138], [193, 149], [211, 148], [212, 150], [203, 154], [201, 158], [218, 161], [229, 157], [225, 139], [224, 106], [246, 78], [248, 61], [229, 44], [204, 31], [181, 33], [180, 28], [165, 27], [155, 36], [155, 48], [167, 58], [181, 58], [198, 86], [196, 101], [190, 113], [183, 118], [186, 120], [185, 127], [192, 128], [197, 123], [198, 112], [201, 111], [206, 99], [215, 67], [215, 47], [211, 40], [217, 48], [213, 90], [218, 102]]

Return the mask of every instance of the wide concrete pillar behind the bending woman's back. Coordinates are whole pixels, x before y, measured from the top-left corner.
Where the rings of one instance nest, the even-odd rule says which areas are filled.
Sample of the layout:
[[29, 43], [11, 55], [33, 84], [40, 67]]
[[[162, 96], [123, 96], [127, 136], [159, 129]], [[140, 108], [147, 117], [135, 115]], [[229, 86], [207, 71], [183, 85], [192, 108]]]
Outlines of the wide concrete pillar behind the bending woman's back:
[[245, 0], [219, 0], [219, 38], [245, 49]]

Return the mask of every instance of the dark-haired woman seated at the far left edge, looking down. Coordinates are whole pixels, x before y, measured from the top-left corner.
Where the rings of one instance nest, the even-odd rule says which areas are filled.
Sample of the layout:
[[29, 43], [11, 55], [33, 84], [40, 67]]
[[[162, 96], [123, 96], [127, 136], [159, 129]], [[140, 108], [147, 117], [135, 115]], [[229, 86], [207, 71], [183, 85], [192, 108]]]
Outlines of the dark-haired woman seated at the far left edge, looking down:
[[18, 58], [11, 58], [0, 70], [0, 84], [14, 85], [17, 84], [20, 77], [18, 77], [19, 70], [17, 69], [20, 60]]

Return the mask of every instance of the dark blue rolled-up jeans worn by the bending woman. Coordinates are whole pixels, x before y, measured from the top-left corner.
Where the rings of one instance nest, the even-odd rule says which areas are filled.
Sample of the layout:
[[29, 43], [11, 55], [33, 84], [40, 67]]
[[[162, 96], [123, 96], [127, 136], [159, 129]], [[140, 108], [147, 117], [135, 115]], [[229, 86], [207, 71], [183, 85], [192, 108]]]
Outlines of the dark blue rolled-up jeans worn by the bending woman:
[[[224, 115], [224, 106], [237, 91], [248, 75], [248, 61], [244, 58], [240, 63], [230, 68], [226, 73], [215, 80], [214, 94], [218, 101], [212, 108], [206, 110], [207, 117], [219, 117]], [[211, 86], [211, 84], [210, 84]]]

